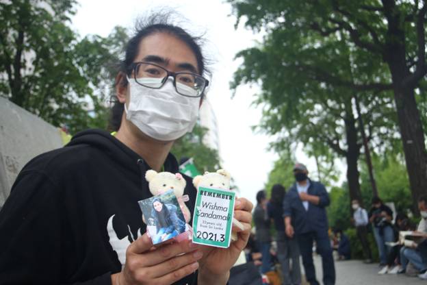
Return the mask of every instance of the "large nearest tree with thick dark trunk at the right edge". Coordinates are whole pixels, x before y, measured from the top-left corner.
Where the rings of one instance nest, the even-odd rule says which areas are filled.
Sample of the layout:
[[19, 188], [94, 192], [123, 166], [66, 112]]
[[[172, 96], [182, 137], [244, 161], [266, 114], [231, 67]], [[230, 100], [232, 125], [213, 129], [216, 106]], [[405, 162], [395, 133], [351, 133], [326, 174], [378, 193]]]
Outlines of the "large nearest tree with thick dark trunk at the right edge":
[[[313, 62], [296, 62], [305, 73], [325, 84], [352, 90], [381, 92], [393, 90], [406, 169], [409, 173], [413, 202], [426, 193], [427, 151], [422, 119], [415, 90], [427, 73], [425, 18], [426, 1], [229, 1], [237, 18], [256, 31], [264, 29], [274, 37], [286, 31], [287, 46], [296, 38], [319, 49], [334, 47], [331, 40], [344, 42], [352, 53], [370, 55], [372, 62], [352, 62], [357, 80], [342, 76], [341, 69], [324, 69]], [[328, 39], [328, 40], [321, 40]], [[291, 44], [292, 45], [292, 44]], [[335, 62], [333, 49], [326, 49], [328, 62]], [[354, 51], [354, 52], [353, 52]], [[301, 55], [297, 49], [294, 54]], [[300, 59], [301, 56], [296, 56]], [[378, 60], [380, 65], [378, 65]], [[384, 72], [384, 68], [387, 73]]]

